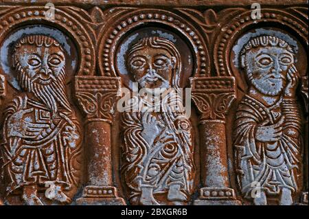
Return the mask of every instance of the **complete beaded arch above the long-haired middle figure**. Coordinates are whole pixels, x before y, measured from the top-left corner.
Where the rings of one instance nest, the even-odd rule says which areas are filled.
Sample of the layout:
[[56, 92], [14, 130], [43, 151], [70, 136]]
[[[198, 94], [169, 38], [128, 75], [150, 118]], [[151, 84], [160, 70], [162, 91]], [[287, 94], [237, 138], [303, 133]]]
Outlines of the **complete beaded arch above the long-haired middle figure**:
[[147, 23], [167, 25], [179, 32], [179, 35], [183, 35], [190, 42], [190, 47], [192, 47], [192, 52], [195, 56], [194, 76], [210, 75], [207, 47], [194, 25], [188, 23], [180, 16], [165, 10], [135, 10], [119, 17], [111, 25], [112, 28], [106, 30], [106, 32], [104, 31], [104, 34], [100, 36], [98, 57], [102, 76], [117, 76], [114, 57], [119, 41], [130, 30], [142, 25], [145, 26]]

